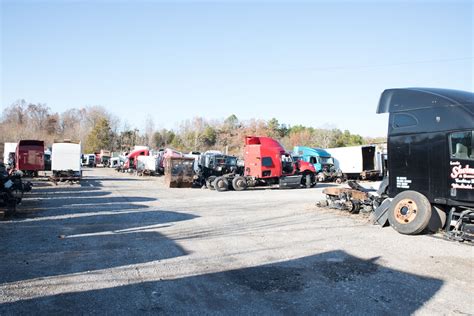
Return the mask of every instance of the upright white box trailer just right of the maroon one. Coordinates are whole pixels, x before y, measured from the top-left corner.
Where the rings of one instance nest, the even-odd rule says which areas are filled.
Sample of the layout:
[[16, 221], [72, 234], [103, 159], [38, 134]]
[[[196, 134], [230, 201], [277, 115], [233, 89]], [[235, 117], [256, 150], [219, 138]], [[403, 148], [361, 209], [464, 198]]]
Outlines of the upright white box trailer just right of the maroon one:
[[54, 143], [51, 152], [51, 170], [54, 178], [59, 178], [59, 180], [81, 178], [80, 143]]

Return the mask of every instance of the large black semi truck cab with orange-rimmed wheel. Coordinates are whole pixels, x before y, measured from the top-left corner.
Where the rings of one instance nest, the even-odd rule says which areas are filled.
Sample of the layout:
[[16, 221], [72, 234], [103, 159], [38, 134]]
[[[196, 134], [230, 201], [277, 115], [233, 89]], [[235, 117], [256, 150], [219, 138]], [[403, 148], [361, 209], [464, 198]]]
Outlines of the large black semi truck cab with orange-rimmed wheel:
[[445, 226], [456, 239], [474, 236], [474, 93], [389, 89], [377, 113], [389, 113], [390, 225], [417, 234]]

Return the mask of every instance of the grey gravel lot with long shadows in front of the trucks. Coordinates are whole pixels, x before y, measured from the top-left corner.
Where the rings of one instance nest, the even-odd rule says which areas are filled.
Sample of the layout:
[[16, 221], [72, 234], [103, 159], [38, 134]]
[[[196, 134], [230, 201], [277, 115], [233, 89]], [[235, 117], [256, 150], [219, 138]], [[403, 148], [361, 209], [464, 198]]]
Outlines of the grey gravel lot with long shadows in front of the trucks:
[[321, 190], [84, 171], [0, 222], [0, 314], [474, 314], [474, 248], [318, 209]]

